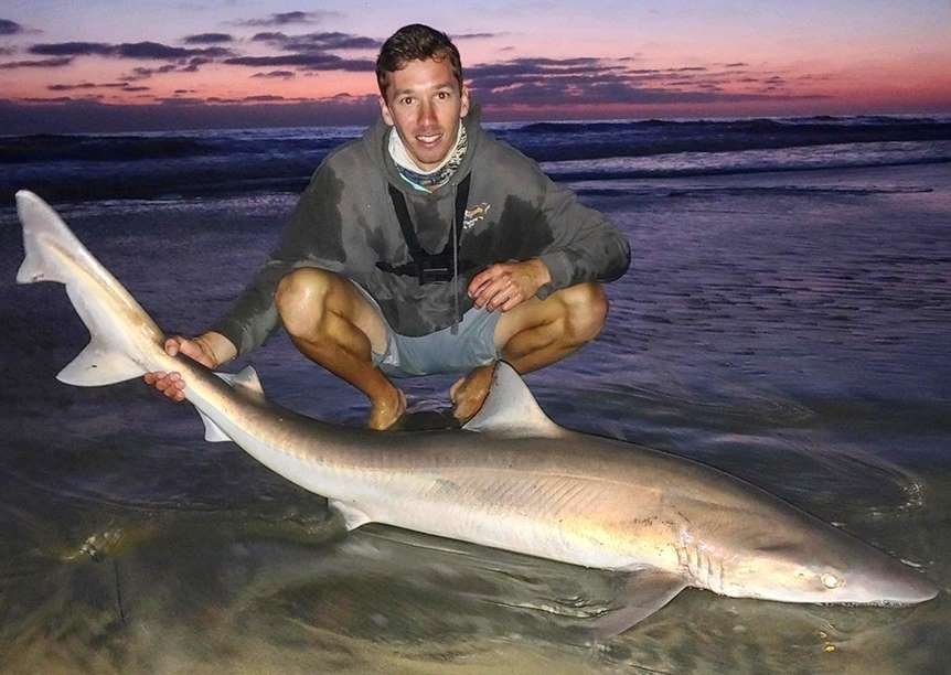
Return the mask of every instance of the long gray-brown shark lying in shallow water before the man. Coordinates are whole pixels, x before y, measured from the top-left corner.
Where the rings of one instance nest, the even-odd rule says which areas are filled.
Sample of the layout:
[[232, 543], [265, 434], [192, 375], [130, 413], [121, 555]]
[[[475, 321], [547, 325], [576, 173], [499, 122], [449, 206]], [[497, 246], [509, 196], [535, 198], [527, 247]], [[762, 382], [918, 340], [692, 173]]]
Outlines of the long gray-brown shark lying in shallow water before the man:
[[939, 589], [891, 555], [710, 465], [555, 424], [499, 362], [461, 429], [372, 431], [268, 400], [252, 367], [214, 373], [163, 350], [164, 333], [39, 196], [17, 193], [19, 283], [56, 281], [90, 341], [56, 376], [104, 386], [178, 371], [209, 441], [232, 441], [323, 495], [348, 529], [367, 523], [611, 570], [617, 598], [590, 619], [617, 635], [687, 587], [780, 602], [907, 606]]

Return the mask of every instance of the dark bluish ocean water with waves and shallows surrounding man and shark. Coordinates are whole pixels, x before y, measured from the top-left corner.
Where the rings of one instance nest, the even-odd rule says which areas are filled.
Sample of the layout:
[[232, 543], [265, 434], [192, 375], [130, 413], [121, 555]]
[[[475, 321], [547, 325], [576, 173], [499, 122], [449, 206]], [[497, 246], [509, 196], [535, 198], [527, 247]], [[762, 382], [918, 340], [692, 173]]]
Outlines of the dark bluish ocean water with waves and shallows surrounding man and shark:
[[[912, 608], [687, 589], [592, 649], [618, 582], [367, 526], [141, 382], [55, 374], [62, 288], [17, 286], [12, 194], [54, 205], [169, 332], [225, 310], [356, 127], [0, 137], [0, 671], [941, 673], [951, 625], [951, 117], [492, 124], [631, 240], [601, 336], [526, 382], [558, 424], [698, 460], [901, 558]], [[289, 408], [362, 397], [276, 334]], [[236, 364], [237, 366], [242, 364]], [[449, 377], [405, 381], [420, 416]]]

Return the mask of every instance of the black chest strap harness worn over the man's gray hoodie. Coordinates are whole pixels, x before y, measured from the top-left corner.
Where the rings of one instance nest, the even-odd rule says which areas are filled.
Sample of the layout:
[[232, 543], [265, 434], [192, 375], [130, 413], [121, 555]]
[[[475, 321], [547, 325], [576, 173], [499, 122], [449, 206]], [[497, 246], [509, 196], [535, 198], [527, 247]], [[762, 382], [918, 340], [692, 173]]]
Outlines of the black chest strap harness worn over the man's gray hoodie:
[[[472, 174], [469, 174], [462, 179], [456, 190], [456, 213], [453, 214], [456, 227], [450, 228], [446, 246], [442, 247], [441, 251], [436, 254], [427, 251], [419, 244], [416, 228], [413, 225], [413, 218], [409, 217], [409, 210], [406, 206], [406, 197], [397, 188], [389, 185], [389, 200], [393, 202], [393, 211], [396, 212], [396, 219], [399, 221], [403, 239], [406, 242], [406, 248], [409, 250], [409, 256], [413, 260], [405, 265], [391, 265], [389, 262], [380, 260], [376, 262], [376, 267], [393, 275], [417, 277], [419, 283], [451, 281], [453, 277], [452, 257], [453, 253], [458, 253], [459, 242], [462, 237], [462, 224], [466, 219], [466, 206], [469, 204], [469, 183], [471, 178]], [[460, 274], [468, 272], [474, 267], [476, 265], [468, 260], [458, 260], [458, 271]]]

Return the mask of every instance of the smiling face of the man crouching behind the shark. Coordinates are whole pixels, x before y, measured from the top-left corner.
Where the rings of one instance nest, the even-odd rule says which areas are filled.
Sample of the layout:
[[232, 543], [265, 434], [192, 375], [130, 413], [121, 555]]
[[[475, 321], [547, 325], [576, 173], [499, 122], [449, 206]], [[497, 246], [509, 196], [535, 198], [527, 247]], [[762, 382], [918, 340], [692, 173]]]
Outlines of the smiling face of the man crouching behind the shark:
[[429, 171], [456, 144], [460, 120], [469, 114], [469, 93], [459, 90], [448, 58], [410, 61], [387, 75], [380, 107], [419, 168]]

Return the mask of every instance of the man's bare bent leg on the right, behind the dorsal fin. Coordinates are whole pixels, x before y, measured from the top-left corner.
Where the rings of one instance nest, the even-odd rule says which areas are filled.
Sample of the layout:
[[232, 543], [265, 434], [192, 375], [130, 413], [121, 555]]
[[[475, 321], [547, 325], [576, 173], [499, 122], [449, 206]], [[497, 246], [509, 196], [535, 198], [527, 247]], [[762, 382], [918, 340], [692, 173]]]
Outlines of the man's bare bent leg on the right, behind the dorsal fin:
[[[608, 300], [600, 283], [563, 288], [503, 313], [495, 324], [495, 347], [519, 373], [531, 373], [597, 338], [607, 314]], [[466, 421], [479, 411], [493, 372], [494, 365], [479, 366], [452, 385], [449, 396], [457, 419]]]

